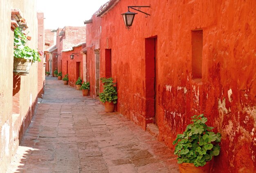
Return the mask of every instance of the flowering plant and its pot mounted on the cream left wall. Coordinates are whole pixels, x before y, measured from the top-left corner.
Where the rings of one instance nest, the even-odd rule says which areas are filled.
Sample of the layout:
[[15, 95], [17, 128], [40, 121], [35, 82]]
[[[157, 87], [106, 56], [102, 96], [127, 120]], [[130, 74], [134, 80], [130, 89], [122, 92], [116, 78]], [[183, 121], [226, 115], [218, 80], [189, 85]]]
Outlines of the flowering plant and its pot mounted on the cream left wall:
[[[25, 22], [25, 19], [20, 19], [20, 22]], [[16, 75], [27, 75], [33, 62], [40, 62], [40, 55], [42, 51], [31, 49], [25, 44], [31, 40], [30, 36], [22, 33], [22, 29], [17, 27], [14, 30], [14, 44], [13, 44], [13, 72]]]

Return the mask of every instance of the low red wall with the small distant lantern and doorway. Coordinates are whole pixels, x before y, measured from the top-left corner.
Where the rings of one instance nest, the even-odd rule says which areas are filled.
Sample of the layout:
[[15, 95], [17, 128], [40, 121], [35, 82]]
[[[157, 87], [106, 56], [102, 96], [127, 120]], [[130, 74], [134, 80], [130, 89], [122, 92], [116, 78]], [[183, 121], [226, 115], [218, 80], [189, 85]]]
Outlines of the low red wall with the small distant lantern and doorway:
[[[82, 48], [82, 46], [79, 46], [75, 47], [73, 51], [62, 52], [62, 78], [68, 73], [68, 84], [72, 87], [76, 87], [76, 80], [78, 77], [81, 77], [83, 80], [83, 53], [80, 53]], [[70, 58], [72, 53], [78, 53], [78, 56], [74, 55], [73, 60]], [[78, 62], [80, 62], [80, 70], [76, 65]], [[77, 71], [80, 71], [80, 75], [77, 74]]]

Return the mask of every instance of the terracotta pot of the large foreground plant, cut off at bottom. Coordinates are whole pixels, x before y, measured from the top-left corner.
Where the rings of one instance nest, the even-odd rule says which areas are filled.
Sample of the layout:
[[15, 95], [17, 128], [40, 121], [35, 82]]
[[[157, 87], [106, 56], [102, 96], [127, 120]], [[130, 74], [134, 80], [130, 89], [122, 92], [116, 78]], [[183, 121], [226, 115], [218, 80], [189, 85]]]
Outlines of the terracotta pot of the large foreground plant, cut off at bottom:
[[204, 166], [196, 167], [193, 163], [178, 164], [180, 173], [210, 173], [211, 161], [206, 162]]

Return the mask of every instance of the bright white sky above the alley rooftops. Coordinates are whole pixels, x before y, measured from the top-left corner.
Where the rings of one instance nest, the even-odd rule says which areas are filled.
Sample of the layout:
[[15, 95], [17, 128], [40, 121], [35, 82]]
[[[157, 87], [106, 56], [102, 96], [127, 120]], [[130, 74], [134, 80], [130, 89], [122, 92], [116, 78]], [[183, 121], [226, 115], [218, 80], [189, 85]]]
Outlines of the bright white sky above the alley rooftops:
[[44, 13], [45, 29], [85, 26], [101, 5], [108, 0], [37, 0], [37, 11]]

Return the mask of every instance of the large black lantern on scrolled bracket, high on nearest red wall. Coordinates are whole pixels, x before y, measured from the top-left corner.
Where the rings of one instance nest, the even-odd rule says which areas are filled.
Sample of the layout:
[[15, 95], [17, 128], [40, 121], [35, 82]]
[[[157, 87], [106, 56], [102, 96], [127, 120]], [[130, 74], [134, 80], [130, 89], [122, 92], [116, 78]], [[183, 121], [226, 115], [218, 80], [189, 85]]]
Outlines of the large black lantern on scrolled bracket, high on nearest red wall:
[[[147, 18], [148, 16], [150, 16], [150, 14], [148, 13], [145, 13], [143, 11], [140, 11], [140, 9], [142, 8], [149, 8], [150, 6], [128, 6], [128, 11], [126, 13], [123, 13], [121, 15], [123, 15], [123, 18], [124, 18], [124, 24], [126, 26], [126, 29], [130, 29], [131, 26], [132, 26], [132, 22], [133, 22], [133, 19], [135, 17], [135, 14], [138, 14], [138, 13], [133, 13], [133, 12], [130, 12], [130, 8], [131, 9], [134, 9], [136, 11], [139, 11], [141, 13], [144, 13], [146, 14], [145, 18]], [[138, 9], [135, 9], [135, 8], [138, 8]]]

